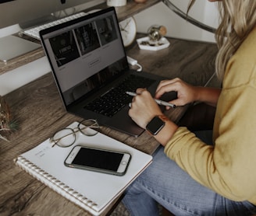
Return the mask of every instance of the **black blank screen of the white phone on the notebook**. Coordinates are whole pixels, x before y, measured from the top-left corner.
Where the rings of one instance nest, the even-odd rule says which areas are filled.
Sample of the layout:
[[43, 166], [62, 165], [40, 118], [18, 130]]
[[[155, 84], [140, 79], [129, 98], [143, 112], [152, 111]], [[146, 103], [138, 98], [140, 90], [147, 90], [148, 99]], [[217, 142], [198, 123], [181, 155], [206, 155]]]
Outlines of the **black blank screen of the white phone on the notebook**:
[[80, 151], [77, 153], [72, 163], [117, 171], [122, 159], [122, 153], [106, 152], [93, 148], [80, 148]]

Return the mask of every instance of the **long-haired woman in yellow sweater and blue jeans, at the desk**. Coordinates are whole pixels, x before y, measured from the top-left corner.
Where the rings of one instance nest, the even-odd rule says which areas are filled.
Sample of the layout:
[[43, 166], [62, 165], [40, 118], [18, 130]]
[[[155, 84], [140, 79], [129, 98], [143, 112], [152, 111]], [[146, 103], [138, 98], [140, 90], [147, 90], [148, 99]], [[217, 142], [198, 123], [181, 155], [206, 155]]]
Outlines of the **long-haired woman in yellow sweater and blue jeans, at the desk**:
[[216, 106], [213, 138], [166, 120], [150, 93], [137, 89], [129, 115], [143, 128], [156, 117], [153, 132], [162, 148], [126, 190], [123, 203], [132, 215], [158, 215], [157, 203], [179, 216], [256, 214], [256, 1], [218, 4], [216, 72], [222, 89], [175, 78], [162, 81], [155, 93], [158, 99], [176, 91], [178, 98], [170, 101], [176, 106], [195, 101]]

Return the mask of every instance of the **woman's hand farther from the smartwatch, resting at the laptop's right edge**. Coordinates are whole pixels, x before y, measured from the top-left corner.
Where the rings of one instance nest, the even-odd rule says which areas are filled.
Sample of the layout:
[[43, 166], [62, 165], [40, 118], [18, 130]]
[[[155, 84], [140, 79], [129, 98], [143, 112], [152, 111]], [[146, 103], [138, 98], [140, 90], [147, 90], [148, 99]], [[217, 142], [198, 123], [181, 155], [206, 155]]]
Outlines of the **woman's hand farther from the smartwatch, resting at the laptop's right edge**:
[[160, 82], [155, 92], [155, 98], [159, 99], [165, 92], [172, 91], [177, 92], [177, 99], [169, 101], [169, 103], [173, 103], [176, 106], [183, 106], [197, 99], [196, 87], [183, 82], [180, 78]]

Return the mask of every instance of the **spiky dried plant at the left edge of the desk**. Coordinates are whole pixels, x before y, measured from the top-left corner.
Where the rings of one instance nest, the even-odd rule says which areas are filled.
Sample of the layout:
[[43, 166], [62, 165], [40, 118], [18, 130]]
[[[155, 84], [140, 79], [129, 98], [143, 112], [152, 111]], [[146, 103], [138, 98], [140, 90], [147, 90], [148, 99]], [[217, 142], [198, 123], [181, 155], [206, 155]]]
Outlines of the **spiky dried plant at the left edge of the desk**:
[[0, 138], [9, 141], [6, 136], [12, 131], [17, 131], [17, 129], [18, 124], [16, 120], [12, 120], [8, 104], [0, 96]]

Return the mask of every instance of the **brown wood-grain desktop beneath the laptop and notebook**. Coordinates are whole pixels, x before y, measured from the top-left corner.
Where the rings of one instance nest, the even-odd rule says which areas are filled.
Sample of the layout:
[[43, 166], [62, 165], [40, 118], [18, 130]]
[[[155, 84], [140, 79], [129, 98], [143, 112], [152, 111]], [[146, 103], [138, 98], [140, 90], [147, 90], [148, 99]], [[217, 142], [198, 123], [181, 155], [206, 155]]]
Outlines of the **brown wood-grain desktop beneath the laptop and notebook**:
[[[142, 51], [134, 43], [127, 54], [136, 58], [145, 71], [205, 85], [214, 73], [217, 47], [187, 40], [169, 39], [169, 42], [169, 48], [162, 51]], [[10, 92], [5, 100], [20, 122], [20, 130], [12, 134], [10, 142], [0, 140], [0, 214], [89, 215], [13, 163], [17, 155], [34, 148], [74, 120], [80, 120], [64, 110], [52, 74]], [[177, 107], [169, 116], [177, 121], [184, 110]], [[151, 153], [158, 146], [147, 132], [139, 138], [109, 128], [103, 128], [102, 132], [143, 152]]]

